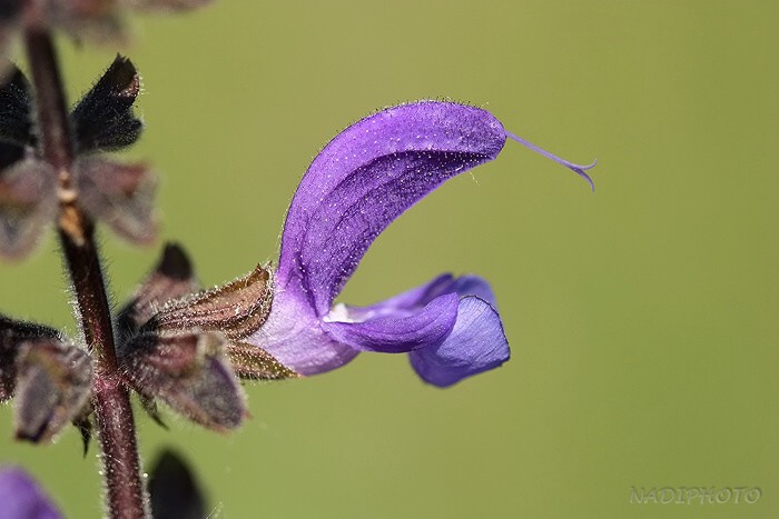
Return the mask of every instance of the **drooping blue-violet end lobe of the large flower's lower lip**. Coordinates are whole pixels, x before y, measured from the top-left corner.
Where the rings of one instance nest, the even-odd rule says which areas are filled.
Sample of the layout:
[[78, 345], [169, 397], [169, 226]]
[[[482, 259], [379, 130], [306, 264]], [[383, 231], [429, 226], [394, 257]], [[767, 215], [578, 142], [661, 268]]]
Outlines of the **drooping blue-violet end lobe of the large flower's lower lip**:
[[497, 368], [509, 357], [509, 341], [500, 316], [477, 297], [460, 300], [457, 321], [441, 346], [410, 353], [417, 375], [441, 388]]

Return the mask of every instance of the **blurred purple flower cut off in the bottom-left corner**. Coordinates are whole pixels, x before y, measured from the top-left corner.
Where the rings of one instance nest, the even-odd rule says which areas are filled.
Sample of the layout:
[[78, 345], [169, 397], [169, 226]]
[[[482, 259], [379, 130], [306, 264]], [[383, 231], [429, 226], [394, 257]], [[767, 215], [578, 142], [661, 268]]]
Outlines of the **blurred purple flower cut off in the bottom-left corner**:
[[0, 469], [0, 519], [59, 519], [57, 508], [21, 469]]

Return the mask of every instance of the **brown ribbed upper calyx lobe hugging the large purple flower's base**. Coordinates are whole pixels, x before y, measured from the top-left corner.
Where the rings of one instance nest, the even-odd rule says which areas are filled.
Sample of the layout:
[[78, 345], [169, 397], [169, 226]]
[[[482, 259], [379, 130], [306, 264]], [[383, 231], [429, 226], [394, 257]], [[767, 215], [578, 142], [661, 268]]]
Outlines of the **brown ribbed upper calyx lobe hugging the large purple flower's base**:
[[230, 340], [248, 337], [265, 322], [273, 301], [270, 271], [255, 270], [221, 287], [171, 301], [145, 328], [218, 331]]

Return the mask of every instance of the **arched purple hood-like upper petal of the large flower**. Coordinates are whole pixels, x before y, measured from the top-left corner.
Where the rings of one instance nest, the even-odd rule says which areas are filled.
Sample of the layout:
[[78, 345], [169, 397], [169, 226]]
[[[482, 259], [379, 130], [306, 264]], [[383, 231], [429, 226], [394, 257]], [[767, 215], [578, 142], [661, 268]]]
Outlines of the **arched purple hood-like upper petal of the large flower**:
[[505, 139], [491, 113], [452, 102], [404, 104], [351, 126], [314, 159], [295, 193], [279, 287], [326, 315], [394, 219], [447, 179], [497, 157]]

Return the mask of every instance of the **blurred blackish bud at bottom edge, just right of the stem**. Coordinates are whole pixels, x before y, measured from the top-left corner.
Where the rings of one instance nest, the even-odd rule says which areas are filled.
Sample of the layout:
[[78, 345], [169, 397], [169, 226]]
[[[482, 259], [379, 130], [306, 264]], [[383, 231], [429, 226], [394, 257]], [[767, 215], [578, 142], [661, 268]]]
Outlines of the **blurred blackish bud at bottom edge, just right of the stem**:
[[206, 498], [185, 459], [170, 449], [157, 458], [149, 478], [151, 516], [155, 519], [201, 519]]

